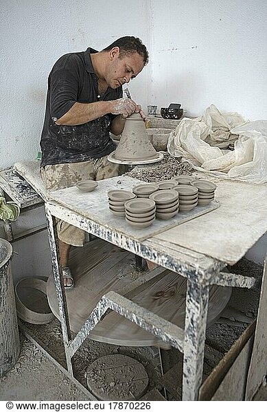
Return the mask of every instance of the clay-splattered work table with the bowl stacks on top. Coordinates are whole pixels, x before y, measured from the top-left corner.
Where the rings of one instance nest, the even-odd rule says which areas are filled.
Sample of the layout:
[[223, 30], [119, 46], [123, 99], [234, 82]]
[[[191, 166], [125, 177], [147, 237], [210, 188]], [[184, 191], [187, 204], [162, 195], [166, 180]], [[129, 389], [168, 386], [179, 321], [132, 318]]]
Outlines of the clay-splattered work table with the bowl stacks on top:
[[[113, 187], [112, 183], [120, 181], [121, 185], [124, 178], [107, 181]], [[100, 181], [100, 189], [103, 182]], [[147, 228], [147, 231], [133, 230], [121, 218], [106, 214], [106, 185], [108, 182], [103, 183], [105, 191], [102, 191], [101, 203], [97, 203], [95, 195], [90, 198], [90, 194], [78, 194], [76, 187], [50, 192], [45, 202], [69, 374], [73, 374], [73, 354], [106, 311], [111, 309], [183, 352], [183, 400], [197, 400], [202, 381], [209, 286], [253, 286], [253, 278], [223, 272], [223, 268], [240, 260], [266, 232], [267, 185], [218, 181], [216, 199], [220, 207], [190, 220], [177, 220], [175, 226], [173, 222], [165, 221], [155, 225], [154, 229]], [[65, 290], [62, 290], [60, 282], [55, 218], [186, 277], [185, 329], [164, 321], [117, 293], [108, 292], [100, 299], [75, 339], [71, 340]]]

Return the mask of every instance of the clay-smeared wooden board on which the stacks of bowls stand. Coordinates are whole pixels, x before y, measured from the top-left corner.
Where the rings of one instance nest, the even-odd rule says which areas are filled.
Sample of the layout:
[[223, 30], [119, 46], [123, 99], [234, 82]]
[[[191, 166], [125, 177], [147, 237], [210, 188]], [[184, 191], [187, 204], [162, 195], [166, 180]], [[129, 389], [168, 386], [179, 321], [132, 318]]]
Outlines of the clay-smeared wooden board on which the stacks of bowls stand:
[[213, 201], [207, 206], [197, 206], [191, 211], [179, 212], [169, 220], [156, 219], [150, 227], [137, 229], [128, 225], [124, 217], [117, 217], [111, 213], [108, 209], [108, 191], [120, 189], [131, 191], [132, 187], [139, 183], [143, 182], [129, 176], [117, 176], [98, 181], [98, 187], [94, 192], [82, 193], [77, 187], [68, 187], [67, 189], [49, 192], [47, 196], [52, 201], [76, 211], [81, 216], [93, 220], [93, 222], [104, 225], [118, 233], [124, 233], [139, 241], [150, 238], [156, 233], [171, 227], [181, 225], [181, 223], [195, 219], [202, 214], [207, 214], [220, 206], [220, 203]]

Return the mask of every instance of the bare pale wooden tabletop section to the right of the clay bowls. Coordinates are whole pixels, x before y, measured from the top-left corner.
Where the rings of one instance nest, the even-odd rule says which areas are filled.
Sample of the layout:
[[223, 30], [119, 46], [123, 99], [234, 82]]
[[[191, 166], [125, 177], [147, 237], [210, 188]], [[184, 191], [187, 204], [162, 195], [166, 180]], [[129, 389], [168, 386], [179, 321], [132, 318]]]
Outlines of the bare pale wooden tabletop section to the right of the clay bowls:
[[154, 236], [235, 264], [267, 231], [267, 185], [216, 183], [220, 208]]

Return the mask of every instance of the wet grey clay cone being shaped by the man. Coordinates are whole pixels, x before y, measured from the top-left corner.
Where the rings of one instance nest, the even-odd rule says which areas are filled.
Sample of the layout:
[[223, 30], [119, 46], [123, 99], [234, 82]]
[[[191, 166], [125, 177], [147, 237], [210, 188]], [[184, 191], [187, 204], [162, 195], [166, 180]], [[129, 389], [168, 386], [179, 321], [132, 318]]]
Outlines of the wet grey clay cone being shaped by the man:
[[151, 161], [158, 157], [139, 113], [127, 117], [113, 157], [120, 161]]

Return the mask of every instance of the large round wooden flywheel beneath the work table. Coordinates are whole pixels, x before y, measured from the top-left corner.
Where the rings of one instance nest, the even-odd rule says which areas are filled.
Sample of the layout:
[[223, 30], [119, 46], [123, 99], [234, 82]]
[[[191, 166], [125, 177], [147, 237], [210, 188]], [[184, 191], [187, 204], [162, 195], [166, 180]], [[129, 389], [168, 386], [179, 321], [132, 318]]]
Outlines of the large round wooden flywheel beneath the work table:
[[[100, 298], [109, 290], [117, 291], [129, 285], [142, 273], [134, 268], [134, 255], [104, 240], [93, 240], [82, 248], [71, 251], [70, 267], [75, 288], [66, 291], [71, 330], [77, 333], [95, 308]], [[163, 278], [148, 284], [130, 298], [168, 321], [184, 327], [186, 279], [171, 271]], [[231, 296], [231, 288], [211, 286], [207, 325], [218, 318]], [[47, 298], [55, 316], [60, 319], [54, 276], [47, 281]], [[95, 341], [126, 346], [161, 345], [152, 334], [139, 328], [119, 314], [111, 311], [90, 333]]]

